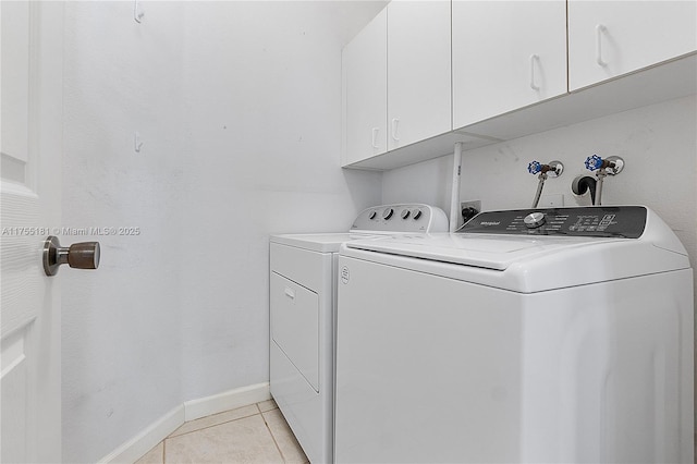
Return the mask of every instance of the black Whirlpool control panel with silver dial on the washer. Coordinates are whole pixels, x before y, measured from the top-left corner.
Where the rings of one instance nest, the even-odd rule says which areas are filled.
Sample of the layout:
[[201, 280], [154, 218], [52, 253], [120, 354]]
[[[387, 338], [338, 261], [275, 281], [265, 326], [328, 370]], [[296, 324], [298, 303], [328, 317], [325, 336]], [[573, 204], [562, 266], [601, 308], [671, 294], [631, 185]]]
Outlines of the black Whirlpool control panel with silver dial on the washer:
[[458, 233], [619, 236], [638, 239], [646, 228], [643, 206], [513, 209], [481, 212]]

